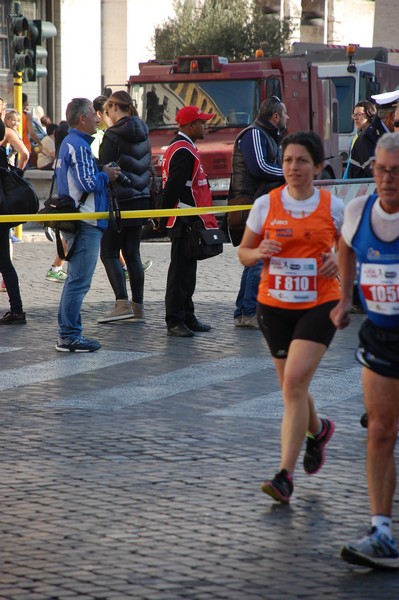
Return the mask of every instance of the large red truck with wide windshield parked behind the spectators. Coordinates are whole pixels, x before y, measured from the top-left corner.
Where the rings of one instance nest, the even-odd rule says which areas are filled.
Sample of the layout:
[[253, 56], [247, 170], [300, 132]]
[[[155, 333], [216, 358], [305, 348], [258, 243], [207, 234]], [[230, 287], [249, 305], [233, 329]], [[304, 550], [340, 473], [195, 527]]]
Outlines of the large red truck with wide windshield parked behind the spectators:
[[333, 82], [320, 77], [305, 57], [257, 58], [228, 62], [218, 56], [182, 56], [174, 61], [140, 63], [129, 92], [151, 131], [158, 175], [162, 156], [176, 132], [175, 115], [195, 104], [214, 113], [204, 140], [198, 142], [215, 204], [225, 204], [234, 140], [250, 125], [259, 105], [278, 96], [287, 106], [289, 131], [316, 131], [324, 140], [323, 178], [342, 174], [338, 148], [338, 102]]

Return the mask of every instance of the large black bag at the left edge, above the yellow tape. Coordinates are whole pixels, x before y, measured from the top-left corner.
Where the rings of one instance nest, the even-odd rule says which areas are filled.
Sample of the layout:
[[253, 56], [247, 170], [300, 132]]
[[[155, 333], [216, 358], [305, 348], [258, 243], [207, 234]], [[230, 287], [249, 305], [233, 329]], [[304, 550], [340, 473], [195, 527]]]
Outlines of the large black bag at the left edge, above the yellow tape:
[[[39, 210], [39, 198], [33, 186], [26, 181], [14, 167], [0, 167], [0, 215], [33, 215]], [[15, 227], [17, 223], [1, 223]]]

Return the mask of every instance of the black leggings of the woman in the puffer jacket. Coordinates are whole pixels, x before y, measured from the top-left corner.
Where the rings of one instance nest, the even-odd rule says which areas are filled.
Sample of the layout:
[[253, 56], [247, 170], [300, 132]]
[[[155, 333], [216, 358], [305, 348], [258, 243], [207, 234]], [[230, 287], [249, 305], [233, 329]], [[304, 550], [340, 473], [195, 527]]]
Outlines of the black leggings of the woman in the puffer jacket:
[[114, 290], [116, 300], [127, 300], [126, 278], [119, 254], [122, 250], [129, 273], [132, 301], [143, 304], [144, 270], [140, 256], [141, 225], [122, 227], [118, 233], [113, 223], [104, 232], [101, 240], [100, 257]]

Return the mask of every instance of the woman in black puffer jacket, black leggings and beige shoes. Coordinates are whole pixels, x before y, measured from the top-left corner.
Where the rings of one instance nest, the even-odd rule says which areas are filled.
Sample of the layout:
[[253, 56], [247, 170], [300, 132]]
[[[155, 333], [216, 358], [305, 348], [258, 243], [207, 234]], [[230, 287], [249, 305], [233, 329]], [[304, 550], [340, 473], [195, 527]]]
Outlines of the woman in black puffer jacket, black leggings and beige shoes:
[[[121, 211], [150, 208], [151, 146], [146, 123], [137, 116], [127, 92], [112, 94], [104, 109], [112, 126], [105, 131], [100, 146], [99, 163], [118, 163], [121, 177], [112, 184], [111, 193]], [[144, 270], [140, 257], [141, 228], [146, 219], [123, 219], [118, 233], [111, 222], [101, 242], [101, 260], [115, 293], [114, 309], [101, 317], [99, 323], [124, 319], [144, 322]], [[122, 250], [129, 273], [132, 302], [129, 302], [126, 277], [119, 262]]]

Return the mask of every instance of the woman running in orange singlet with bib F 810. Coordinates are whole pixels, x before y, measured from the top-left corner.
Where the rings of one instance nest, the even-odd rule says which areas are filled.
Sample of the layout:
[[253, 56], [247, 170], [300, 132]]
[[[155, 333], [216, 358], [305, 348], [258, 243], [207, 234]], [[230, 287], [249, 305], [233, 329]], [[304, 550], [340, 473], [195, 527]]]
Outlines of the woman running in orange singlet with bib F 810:
[[309, 386], [335, 333], [329, 313], [340, 295], [334, 248], [344, 205], [313, 185], [324, 162], [316, 133], [291, 134], [282, 147], [286, 185], [255, 201], [238, 256], [249, 267], [264, 261], [257, 316], [273, 356], [284, 416], [280, 469], [262, 490], [288, 503], [305, 437], [303, 467], [312, 475], [322, 467], [335, 429], [318, 416]]

